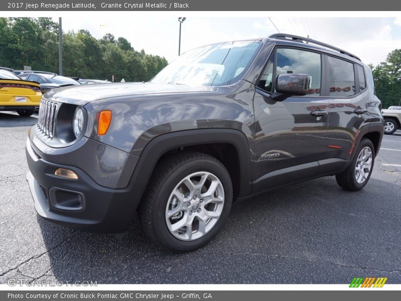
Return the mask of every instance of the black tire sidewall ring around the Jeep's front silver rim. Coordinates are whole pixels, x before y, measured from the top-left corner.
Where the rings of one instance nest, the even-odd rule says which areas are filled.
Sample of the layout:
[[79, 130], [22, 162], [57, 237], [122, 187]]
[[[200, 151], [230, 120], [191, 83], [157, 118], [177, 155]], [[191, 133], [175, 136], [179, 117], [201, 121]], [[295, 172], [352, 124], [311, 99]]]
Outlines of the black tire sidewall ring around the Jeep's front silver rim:
[[[193, 241], [184, 241], [174, 237], [168, 230], [165, 221], [165, 210], [168, 198], [175, 186], [183, 178], [196, 172], [209, 172], [219, 178], [225, 194], [224, 207], [218, 222], [208, 233]], [[231, 178], [222, 164], [208, 159], [197, 159], [183, 164], [165, 179], [152, 208], [153, 225], [158, 241], [164, 247], [175, 251], [187, 251], [203, 246], [212, 240], [223, 227], [231, 210], [232, 199], [233, 188]]]

